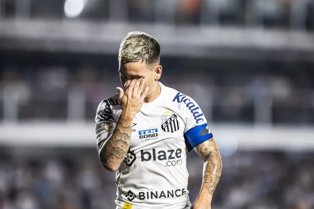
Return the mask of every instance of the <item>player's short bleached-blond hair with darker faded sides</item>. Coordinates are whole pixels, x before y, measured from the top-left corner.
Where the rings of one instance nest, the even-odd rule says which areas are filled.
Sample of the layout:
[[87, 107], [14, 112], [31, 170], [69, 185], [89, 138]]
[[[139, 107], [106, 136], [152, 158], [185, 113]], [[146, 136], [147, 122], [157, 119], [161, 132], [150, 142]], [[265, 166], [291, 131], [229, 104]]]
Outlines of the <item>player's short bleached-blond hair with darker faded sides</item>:
[[122, 63], [138, 61], [159, 64], [160, 45], [151, 35], [142, 31], [132, 31], [122, 40], [118, 59], [119, 67]]

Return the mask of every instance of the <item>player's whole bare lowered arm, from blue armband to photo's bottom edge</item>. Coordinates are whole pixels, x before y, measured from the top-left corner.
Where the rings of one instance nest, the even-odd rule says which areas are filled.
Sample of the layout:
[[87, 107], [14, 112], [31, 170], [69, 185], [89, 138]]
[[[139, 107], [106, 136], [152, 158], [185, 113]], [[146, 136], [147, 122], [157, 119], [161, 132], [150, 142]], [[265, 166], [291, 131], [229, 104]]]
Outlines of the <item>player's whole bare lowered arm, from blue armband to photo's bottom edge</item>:
[[221, 176], [221, 156], [213, 137], [194, 147], [194, 150], [204, 160], [203, 185], [195, 202], [199, 208], [210, 208], [213, 193]]

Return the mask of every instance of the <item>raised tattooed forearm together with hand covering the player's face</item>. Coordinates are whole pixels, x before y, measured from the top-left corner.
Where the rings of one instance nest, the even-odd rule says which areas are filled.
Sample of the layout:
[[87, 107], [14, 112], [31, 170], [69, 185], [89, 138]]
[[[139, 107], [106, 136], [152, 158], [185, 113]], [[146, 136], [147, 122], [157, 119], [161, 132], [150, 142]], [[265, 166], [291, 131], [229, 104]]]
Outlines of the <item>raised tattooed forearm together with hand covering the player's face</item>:
[[124, 92], [122, 88], [117, 87], [119, 92], [119, 103], [121, 115], [115, 130], [104, 142], [98, 142], [98, 155], [103, 167], [110, 171], [115, 171], [123, 162], [129, 149], [133, 118], [140, 111], [149, 87], [145, 86], [145, 79], [133, 79]]

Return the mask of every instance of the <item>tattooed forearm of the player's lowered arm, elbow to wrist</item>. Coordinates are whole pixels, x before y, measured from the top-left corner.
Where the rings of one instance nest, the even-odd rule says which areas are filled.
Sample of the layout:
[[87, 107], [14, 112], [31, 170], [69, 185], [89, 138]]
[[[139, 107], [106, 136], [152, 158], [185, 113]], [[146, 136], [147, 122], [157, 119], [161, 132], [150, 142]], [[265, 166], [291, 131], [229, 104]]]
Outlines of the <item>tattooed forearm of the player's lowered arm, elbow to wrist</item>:
[[208, 158], [204, 161], [203, 185], [201, 193], [212, 196], [219, 182], [222, 172], [222, 161], [218, 150], [209, 152]]

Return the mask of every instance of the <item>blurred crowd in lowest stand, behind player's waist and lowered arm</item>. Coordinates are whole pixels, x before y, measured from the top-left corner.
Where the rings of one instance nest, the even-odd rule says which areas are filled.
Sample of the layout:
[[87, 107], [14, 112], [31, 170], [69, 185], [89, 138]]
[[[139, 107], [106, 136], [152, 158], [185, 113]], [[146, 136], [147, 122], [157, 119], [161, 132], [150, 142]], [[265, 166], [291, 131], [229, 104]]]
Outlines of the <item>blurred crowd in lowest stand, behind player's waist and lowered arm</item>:
[[[8, 150], [2, 147], [0, 158], [1, 209], [115, 208], [115, 174], [101, 167], [96, 149]], [[313, 209], [313, 159], [282, 152], [225, 156], [212, 208]], [[188, 155], [191, 201], [201, 186], [202, 163], [196, 153]]]

